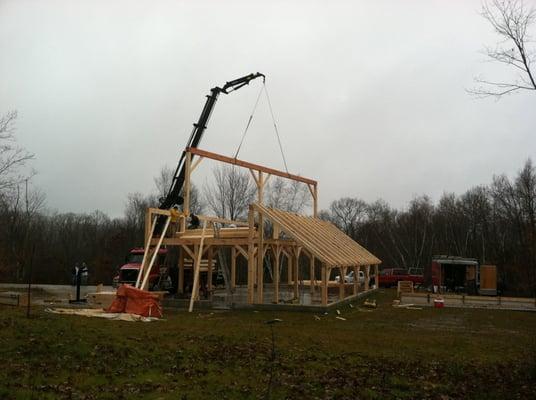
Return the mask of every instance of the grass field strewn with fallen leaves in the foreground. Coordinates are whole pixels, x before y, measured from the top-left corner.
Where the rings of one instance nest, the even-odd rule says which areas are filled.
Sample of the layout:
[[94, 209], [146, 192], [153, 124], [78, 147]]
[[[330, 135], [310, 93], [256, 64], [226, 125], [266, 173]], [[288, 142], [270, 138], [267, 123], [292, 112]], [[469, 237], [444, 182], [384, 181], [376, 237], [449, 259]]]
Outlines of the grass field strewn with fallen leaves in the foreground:
[[[391, 306], [167, 311], [154, 323], [0, 308], [0, 399], [534, 399], [536, 313]], [[270, 327], [276, 359], [271, 362]], [[270, 370], [273, 379], [269, 388]]]

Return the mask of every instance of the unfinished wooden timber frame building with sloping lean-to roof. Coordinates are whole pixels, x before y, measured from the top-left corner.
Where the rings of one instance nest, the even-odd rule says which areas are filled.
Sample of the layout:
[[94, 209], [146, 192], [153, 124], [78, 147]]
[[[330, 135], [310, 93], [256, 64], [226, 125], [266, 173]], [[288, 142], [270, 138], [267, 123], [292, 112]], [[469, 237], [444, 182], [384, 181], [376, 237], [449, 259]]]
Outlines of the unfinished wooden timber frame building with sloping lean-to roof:
[[[370, 290], [371, 266], [374, 268], [374, 284], [378, 287], [378, 265], [381, 261], [334, 225], [317, 218], [318, 184], [315, 180], [197, 148], [186, 148], [185, 152], [183, 210], [175, 213], [166, 237], [155, 238], [152, 232], [155, 215], [169, 215], [170, 211], [148, 209], [145, 243], [146, 248], [154, 248], [159, 244], [179, 248], [179, 294], [186, 295], [185, 269], [189, 268], [193, 274], [193, 283], [189, 286], [190, 311], [195, 300], [200, 298], [202, 271], [207, 273], [205, 295], [209, 299], [212, 297], [214, 257], [222, 248], [229, 249], [230, 253], [230, 271], [227, 271], [225, 282], [227, 294], [237, 290], [238, 258], [247, 262], [245, 299], [248, 304], [303, 305], [307, 298], [309, 305], [327, 306]], [[194, 156], [197, 159], [194, 160]], [[250, 205], [247, 221], [197, 215], [202, 229], [188, 227], [192, 173], [204, 159], [224, 162], [250, 171], [257, 188], [257, 201]], [[311, 217], [263, 205], [264, 188], [272, 175], [307, 185], [312, 196]], [[347, 282], [345, 279], [339, 279], [335, 282], [331, 279], [334, 269], [340, 277], [346, 277], [350, 271], [353, 271], [354, 277], [358, 277], [359, 271], [362, 270], [365, 280], [359, 282], [354, 279], [354, 282]], [[271, 282], [265, 283], [266, 276]], [[338, 294], [330, 296], [330, 289], [334, 289]]]

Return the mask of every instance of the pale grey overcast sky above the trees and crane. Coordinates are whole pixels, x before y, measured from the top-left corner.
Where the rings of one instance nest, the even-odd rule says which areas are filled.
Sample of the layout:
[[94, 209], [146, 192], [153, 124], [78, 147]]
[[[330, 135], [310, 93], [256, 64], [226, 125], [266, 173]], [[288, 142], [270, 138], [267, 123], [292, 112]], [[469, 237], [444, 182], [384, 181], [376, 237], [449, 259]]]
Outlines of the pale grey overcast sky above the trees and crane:
[[[321, 207], [436, 201], [536, 159], [536, 95], [465, 92], [478, 74], [511, 75], [484, 62], [498, 37], [479, 11], [469, 0], [0, 0], [0, 113], [18, 110], [49, 208], [120, 216], [127, 193], [153, 191], [175, 166], [209, 89], [260, 71], [289, 171], [319, 181]], [[261, 85], [220, 97], [200, 148], [234, 154]], [[265, 99], [240, 158], [283, 169]]]

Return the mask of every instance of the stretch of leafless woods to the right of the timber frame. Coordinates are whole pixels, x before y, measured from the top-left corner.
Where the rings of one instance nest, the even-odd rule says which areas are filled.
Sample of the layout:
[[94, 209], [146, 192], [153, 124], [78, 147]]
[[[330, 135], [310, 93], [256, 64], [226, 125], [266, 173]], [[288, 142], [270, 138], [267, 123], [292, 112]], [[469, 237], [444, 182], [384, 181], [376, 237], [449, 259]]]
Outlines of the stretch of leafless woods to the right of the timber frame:
[[496, 176], [462, 195], [445, 193], [437, 204], [422, 196], [397, 210], [381, 200], [343, 198], [321, 217], [384, 266], [423, 268], [434, 255], [474, 257], [498, 266], [503, 292], [536, 295], [536, 169], [530, 160], [513, 180]]

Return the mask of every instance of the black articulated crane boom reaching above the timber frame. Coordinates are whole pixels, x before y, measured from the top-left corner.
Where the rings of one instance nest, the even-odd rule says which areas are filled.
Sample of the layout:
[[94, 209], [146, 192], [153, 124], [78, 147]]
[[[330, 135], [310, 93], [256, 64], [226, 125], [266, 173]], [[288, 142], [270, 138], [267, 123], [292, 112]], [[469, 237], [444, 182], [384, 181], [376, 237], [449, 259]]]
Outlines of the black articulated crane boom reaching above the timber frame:
[[[207, 129], [207, 124], [210, 119], [210, 115], [212, 114], [212, 110], [214, 110], [214, 106], [216, 104], [216, 101], [218, 100], [218, 96], [220, 95], [220, 93], [229, 94], [230, 92], [240, 89], [242, 86], [248, 85], [249, 82], [251, 82], [253, 79], [259, 77], [263, 78], [263, 82], [266, 79], [263, 74], [257, 72], [254, 74], [243, 76], [233, 81], [226, 82], [225, 85], [223, 85], [222, 87], [216, 86], [210, 89], [210, 94], [207, 96], [207, 101], [205, 102], [205, 106], [201, 111], [199, 120], [194, 123], [194, 127], [192, 129], [192, 133], [190, 134], [190, 138], [188, 139], [186, 148], [196, 148], [199, 145], [199, 142], [203, 137], [203, 133]], [[186, 151], [183, 151], [179, 159], [179, 164], [177, 165], [175, 173], [173, 174], [171, 186], [166, 196], [160, 199], [159, 208], [167, 210], [183, 203], [184, 200], [181, 196], [181, 190], [184, 185], [184, 179], [186, 174], [185, 159]]]

